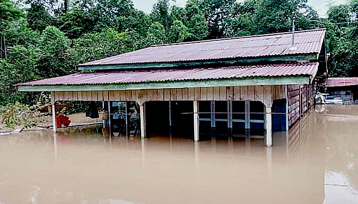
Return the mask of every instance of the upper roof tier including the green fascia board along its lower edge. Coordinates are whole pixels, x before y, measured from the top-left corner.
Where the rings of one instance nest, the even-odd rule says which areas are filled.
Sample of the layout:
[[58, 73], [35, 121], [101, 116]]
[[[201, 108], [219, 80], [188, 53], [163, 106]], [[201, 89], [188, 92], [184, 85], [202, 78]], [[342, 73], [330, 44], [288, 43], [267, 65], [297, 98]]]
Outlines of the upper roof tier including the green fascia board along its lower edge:
[[185, 43], [153, 45], [121, 55], [79, 64], [79, 69], [173, 67], [203, 63], [317, 60], [326, 30], [277, 33]]

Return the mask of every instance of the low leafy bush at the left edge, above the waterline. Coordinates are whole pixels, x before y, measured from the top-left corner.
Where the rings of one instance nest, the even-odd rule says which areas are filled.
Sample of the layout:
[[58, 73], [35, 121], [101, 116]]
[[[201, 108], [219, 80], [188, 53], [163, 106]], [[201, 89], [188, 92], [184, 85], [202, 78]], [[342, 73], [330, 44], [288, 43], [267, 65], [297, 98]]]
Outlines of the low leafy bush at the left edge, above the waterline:
[[42, 122], [42, 114], [27, 105], [16, 103], [0, 108], [0, 121], [9, 128], [21, 125], [26, 128]]

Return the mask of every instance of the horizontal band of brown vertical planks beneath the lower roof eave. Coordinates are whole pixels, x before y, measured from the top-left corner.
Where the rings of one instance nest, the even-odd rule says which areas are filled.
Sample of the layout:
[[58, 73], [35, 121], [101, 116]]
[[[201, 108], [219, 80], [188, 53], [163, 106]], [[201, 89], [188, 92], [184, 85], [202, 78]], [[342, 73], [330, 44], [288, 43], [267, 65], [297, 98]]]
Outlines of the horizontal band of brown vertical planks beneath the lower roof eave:
[[55, 100], [150, 101], [150, 100], [259, 100], [272, 105], [286, 98], [286, 86], [229, 86], [125, 91], [55, 91]]

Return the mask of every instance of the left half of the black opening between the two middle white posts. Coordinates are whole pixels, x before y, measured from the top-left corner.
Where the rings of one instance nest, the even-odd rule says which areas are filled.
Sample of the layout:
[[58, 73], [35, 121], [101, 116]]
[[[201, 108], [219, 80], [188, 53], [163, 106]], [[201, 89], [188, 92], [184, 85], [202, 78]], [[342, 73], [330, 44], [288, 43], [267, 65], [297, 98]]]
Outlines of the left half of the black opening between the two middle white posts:
[[145, 103], [146, 136], [169, 137], [169, 102], [148, 101]]

